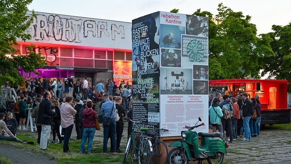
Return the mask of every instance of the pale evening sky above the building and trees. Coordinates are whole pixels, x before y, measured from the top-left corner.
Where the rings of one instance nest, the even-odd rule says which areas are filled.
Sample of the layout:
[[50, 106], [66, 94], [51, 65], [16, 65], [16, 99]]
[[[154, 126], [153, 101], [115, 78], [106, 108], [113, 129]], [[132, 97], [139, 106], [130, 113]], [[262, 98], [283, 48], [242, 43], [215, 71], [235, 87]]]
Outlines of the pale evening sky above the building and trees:
[[243, 15], [251, 16], [251, 23], [257, 26], [257, 34], [272, 32], [272, 25], [285, 26], [291, 22], [291, 1], [286, 0], [33, 0], [28, 9], [36, 12], [131, 22], [144, 15], [157, 11], [170, 12], [172, 9], [179, 9], [180, 14], [188, 15], [201, 9], [216, 15], [219, 3], [223, 3], [234, 12], [243, 12]]

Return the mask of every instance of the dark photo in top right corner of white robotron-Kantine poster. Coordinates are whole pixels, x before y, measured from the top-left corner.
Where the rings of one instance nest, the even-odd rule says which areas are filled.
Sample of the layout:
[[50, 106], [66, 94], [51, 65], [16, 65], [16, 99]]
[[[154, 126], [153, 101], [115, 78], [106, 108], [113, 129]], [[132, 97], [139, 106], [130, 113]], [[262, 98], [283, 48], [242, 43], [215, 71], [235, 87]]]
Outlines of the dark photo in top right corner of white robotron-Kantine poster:
[[208, 36], [208, 18], [195, 15], [187, 15], [186, 34]]

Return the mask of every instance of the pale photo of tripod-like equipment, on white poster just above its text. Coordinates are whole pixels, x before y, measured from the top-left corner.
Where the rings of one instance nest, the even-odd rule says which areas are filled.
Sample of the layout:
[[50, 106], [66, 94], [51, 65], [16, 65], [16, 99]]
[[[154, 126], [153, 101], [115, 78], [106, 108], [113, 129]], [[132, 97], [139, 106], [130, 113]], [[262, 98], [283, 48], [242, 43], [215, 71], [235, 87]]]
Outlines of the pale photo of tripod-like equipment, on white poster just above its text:
[[192, 95], [192, 69], [161, 67], [161, 94]]

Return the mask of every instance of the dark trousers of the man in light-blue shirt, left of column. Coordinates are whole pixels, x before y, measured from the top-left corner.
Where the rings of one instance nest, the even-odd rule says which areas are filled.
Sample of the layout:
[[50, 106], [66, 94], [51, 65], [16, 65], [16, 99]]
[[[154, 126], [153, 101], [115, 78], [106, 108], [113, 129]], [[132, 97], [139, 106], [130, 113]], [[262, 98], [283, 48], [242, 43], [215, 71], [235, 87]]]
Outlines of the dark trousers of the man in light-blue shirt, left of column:
[[110, 119], [110, 125], [104, 127], [103, 131], [103, 152], [107, 151], [107, 142], [110, 134], [110, 140], [112, 141], [113, 152], [116, 152], [116, 121], [115, 119]]

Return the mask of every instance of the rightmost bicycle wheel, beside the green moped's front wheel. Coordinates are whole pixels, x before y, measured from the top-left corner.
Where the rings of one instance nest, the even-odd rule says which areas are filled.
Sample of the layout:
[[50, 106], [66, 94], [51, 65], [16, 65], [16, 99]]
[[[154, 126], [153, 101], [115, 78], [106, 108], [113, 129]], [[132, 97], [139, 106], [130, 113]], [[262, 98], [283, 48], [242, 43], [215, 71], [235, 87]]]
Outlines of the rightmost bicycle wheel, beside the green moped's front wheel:
[[168, 147], [163, 141], [158, 141], [156, 144], [153, 144], [153, 154], [152, 162], [153, 163], [166, 163], [168, 155]]

